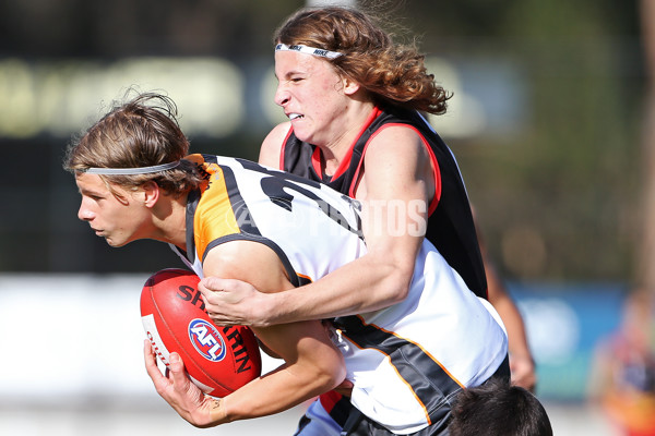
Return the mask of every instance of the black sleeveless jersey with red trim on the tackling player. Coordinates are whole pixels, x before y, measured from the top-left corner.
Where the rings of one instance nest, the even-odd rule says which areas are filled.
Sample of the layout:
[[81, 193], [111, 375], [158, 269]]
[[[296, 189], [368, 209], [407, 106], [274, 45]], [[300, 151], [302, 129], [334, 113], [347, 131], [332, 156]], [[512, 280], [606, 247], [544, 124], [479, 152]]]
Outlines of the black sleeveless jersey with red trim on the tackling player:
[[350, 197], [364, 171], [364, 155], [371, 138], [382, 129], [404, 125], [416, 131], [426, 144], [434, 168], [434, 199], [429, 207], [426, 238], [478, 296], [487, 298], [487, 280], [477, 241], [468, 195], [457, 162], [430, 124], [414, 110], [376, 108], [334, 175], [321, 171], [320, 148], [299, 141], [289, 131], [282, 147], [279, 168], [326, 183]]

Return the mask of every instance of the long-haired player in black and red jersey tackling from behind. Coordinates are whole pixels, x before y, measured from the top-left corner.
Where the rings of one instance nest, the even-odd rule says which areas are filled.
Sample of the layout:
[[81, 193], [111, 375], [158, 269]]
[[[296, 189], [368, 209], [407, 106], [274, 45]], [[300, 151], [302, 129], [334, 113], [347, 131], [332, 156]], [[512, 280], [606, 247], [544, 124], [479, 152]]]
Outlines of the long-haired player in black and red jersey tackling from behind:
[[[486, 298], [489, 291], [511, 328], [514, 380], [533, 389], [534, 363], [519, 311], [499, 280], [487, 288], [457, 164], [420, 114], [444, 113], [450, 98], [426, 71], [424, 56], [394, 44], [371, 16], [336, 7], [297, 11], [275, 33], [274, 44], [275, 102], [289, 121], [266, 136], [260, 162], [326, 183], [380, 214], [365, 223], [368, 254], [313, 283], [264, 294], [243, 282], [203, 280], [210, 316], [219, 325], [269, 326], [389, 306], [405, 299], [427, 238], [472, 292]], [[416, 214], [427, 222], [420, 234], [393, 232], [395, 222]], [[300, 432], [338, 434], [350, 409], [347, 398], [324, 395], [310, 407]], [[312, 420], [332, 433], [311, 433]]]

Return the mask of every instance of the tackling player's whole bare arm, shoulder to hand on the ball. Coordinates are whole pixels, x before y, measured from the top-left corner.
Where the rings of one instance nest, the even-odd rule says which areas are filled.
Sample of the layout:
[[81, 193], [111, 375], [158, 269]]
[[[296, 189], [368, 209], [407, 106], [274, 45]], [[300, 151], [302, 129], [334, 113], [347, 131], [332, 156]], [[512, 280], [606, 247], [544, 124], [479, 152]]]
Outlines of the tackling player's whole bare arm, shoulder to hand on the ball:
[[386, 307], [405, 298], [434, 192], [428, 152], [413, 130], [388, 128], [372, 141], [365, 166], [357, 198], [365, 204], [369, 253], [314, 283], [276, 294], [238, 281], [205, 279], [201, 290], [222, 290], [207, 299], [215, 323], [269, 326], [329, 318]]

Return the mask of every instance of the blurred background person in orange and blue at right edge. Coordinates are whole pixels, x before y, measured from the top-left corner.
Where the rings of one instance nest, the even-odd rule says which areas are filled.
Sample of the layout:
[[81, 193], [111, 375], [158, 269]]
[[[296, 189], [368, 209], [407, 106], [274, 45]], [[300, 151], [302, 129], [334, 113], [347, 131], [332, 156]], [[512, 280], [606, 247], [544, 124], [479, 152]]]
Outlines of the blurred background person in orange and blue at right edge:
[[592, 400], [620, 434], [655, 436], [655, 304], [635, 290], [626, 299], [619, 328], [596, 349]]

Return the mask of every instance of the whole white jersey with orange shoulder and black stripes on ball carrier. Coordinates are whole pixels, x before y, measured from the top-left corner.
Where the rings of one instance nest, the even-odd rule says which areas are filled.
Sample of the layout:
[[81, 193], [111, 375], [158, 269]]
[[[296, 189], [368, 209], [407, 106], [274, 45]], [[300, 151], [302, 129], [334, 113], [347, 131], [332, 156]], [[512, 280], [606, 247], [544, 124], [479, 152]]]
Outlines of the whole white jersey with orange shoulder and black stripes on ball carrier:
[[[249, 240], [277, 253], [296, 286], [366, 254], [356, 201], [258, 164], [192, 155], [210, 174], [189, 196], [184, 262], [202, 277], [214, 246]], [[257, 268], [257, 265], [252, 265]], [[409, 294], [384, 310], [334, 319], [333, 341], [354, 383], [353, 404], [397, 434], [442, 420], [462, 387], [488, 379], [507, 356], [493, 308], [424, 241]]]

